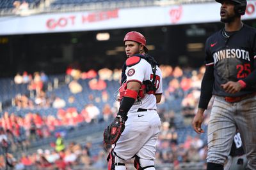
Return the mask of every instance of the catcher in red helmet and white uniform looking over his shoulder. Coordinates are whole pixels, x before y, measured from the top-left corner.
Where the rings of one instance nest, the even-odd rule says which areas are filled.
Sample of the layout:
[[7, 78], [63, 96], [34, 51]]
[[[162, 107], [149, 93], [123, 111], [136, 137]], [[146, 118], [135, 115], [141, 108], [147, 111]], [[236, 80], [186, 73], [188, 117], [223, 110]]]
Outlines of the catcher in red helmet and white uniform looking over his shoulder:
[[[112, 145], [108, 169], [125, 170], [125, 162], [134, 157], [136, 169], [154, 170], [161, 129], [156, 104], [161, 101], [163, 92], [162, 74], [156, 60], [146, 53], [146, 39], [140, 32], [128, 32], [124, 46], [127, 60], [122, 68], [117, 118], [124, 120], [125, 129]], [[111, 132], [115, 130], [113, 128]]]

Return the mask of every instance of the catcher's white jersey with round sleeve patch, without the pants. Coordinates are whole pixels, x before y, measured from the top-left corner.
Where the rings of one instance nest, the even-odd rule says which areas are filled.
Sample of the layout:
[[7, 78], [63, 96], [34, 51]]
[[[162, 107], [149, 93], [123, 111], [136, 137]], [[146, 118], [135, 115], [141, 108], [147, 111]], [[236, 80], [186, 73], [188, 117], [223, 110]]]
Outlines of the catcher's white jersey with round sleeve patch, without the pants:
[[[145, 59], [141, 59], [138, 64], [134, 66], [127, 67], [125, 70], [125, 74], [127, 76], [126, 82], [129, 81], [138, 81], [142, 84], [145, 80], [152, 81], [153, 79], [153, 71], [152, 66]], [[163, 80], [162, 73], [159, 67], [156, 69], [156, 94], [163, 93]], [[145, 94], [143, 99], [137, 99], [132, 105], [129, 112], [136, 112], [138, 108], [156, 110], [156, 97], [153, 94]]]

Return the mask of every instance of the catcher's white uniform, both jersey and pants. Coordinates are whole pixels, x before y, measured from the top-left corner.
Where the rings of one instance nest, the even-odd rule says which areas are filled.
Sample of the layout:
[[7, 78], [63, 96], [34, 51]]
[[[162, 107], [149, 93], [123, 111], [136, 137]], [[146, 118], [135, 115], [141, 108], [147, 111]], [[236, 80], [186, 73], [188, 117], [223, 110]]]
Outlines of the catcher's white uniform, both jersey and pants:
[[[138, 81], [142, 83], [153, 79], [152, 66], [142, 58], [138, 64], [131, 67], [127, 66], [125, 74], [126, 82]], [[159, 67], [156, 69], [156, 88], [156, 94], [162, 94], [163, 82]], [[139, 108], [147, 110], [138, 112]], [[145, 94], [143, 99], [137, 99], [127, 116], [124, 132], [116, 144], [112, 145], [113, 152], [117, 157], [124, 160], [129, 160], [134, 155], [140, 159], [154, 160], [157, 138], [161, 129], [161, 120], [156, 111], [156, 96]]]

